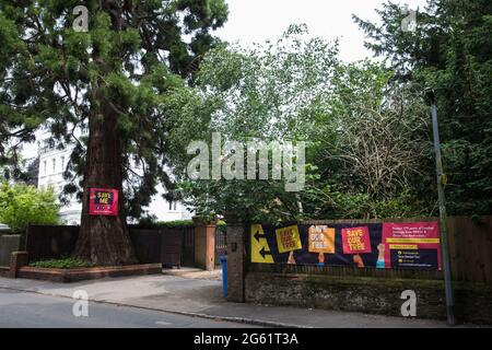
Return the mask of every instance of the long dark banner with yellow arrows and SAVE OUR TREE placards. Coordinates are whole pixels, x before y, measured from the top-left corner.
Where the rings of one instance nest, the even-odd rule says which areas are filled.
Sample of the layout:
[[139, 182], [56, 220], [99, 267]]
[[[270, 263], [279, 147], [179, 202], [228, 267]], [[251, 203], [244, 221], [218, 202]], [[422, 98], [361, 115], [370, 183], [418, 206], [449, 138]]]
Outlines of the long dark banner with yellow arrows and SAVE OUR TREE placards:
[[441, 269], [437, 222], [254, 224], [250, 261]]

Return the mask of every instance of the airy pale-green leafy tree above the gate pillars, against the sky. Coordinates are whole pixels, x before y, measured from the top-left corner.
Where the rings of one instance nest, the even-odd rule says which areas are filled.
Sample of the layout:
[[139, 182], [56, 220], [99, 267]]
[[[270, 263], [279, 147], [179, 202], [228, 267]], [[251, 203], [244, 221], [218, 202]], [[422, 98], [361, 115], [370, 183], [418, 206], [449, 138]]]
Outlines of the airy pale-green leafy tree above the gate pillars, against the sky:
[[[199, 101], [183, 116], [197, 128], [194, 135], [181, 132], [183, 152], [191, 140], [211, 144], [214, 131], [223, 141], [306, 141], [311, 126], [305, 119], [321, 107], [317, 101], [328, 92], [338, 58], [336, 45], [305, 43], [305, 34], [304, 26], [295, 25], [276, 44], [221, 46], [206, 55], [197, 74]], [[191, 182], [186, 175], [189, 160], [180, 154], [176, 173], [183, 196], [200, 215], [234, 211], [245, 220], [270, 222], [302, 215], [298, 194], [285, 191], [284, 178], [272, 179], [271, 152], [270, 173], [262, 180]]]

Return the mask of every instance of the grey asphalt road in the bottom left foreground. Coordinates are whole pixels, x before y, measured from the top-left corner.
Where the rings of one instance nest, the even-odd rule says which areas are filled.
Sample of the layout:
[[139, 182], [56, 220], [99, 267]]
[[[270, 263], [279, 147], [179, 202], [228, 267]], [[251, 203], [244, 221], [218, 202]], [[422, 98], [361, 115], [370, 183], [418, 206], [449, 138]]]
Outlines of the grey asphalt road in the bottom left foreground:
[[0, 289], [0, 328], [235, 328], [245, 324], [89, 302], [89, 316], [73, 316], [75, 300]]

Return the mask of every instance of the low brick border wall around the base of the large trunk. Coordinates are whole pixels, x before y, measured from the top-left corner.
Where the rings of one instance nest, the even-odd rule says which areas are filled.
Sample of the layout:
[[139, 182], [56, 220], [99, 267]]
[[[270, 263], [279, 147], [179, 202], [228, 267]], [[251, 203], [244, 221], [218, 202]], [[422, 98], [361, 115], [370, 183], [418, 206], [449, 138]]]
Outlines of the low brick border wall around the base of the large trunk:
[[24, 266], [19, 268], [16, 277], [51, 282], [77, 282], [105, 277], [145, 276], [162, 273], [161, 264], [91, 267], [80, 269], [51, 269]]

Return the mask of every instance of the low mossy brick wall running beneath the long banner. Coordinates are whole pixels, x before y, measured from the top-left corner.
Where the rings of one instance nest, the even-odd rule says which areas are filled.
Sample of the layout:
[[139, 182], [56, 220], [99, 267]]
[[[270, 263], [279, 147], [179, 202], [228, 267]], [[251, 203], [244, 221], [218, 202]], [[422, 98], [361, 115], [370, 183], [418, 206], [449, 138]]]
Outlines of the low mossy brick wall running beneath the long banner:
[[[446, 319], [444, 282], [371, 277], [249, 272], [246, 302], [400, 316], [405, 290], [417, 293], [417, 317]], [[492, 287], [454, 282], [459, 322], [492, 325]]]

